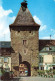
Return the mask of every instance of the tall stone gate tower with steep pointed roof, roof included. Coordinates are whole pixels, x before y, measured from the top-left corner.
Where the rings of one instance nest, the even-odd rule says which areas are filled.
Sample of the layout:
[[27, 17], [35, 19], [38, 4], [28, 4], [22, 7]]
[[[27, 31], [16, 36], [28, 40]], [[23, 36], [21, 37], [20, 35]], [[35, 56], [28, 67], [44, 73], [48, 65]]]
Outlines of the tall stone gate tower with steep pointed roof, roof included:
[[37, 74], [35, 68], [39, 62], [39, 27], [29, 12], [27, 3], [22, 2], [14, 23], [10, 25], [11, 68], [14, 76], [21, 75], [20, 66], [26, 68], [23, 70], [27, 72], [27, 76]]

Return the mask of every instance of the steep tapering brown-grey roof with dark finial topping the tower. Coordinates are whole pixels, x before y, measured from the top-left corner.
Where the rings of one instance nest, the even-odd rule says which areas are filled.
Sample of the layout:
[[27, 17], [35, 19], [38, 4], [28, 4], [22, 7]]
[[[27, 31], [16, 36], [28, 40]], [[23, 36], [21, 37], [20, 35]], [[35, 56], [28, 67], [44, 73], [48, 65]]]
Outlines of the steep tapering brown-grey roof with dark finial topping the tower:
[[18, 12], [18, 15], [13, 24], [10, 26], [38, 26], [39, 24], [35, 23], [30, 11], [27, 8], [27, 3], [21, 3], [21, 8]]

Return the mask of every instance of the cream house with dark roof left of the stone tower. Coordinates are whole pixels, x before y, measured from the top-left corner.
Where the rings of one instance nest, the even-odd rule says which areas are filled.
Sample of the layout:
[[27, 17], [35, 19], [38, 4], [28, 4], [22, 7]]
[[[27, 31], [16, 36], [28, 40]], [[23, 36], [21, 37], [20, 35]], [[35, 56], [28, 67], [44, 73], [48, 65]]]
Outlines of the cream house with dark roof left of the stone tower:
[[0, 68], [11, 71], [11, 42], [0, 42]]

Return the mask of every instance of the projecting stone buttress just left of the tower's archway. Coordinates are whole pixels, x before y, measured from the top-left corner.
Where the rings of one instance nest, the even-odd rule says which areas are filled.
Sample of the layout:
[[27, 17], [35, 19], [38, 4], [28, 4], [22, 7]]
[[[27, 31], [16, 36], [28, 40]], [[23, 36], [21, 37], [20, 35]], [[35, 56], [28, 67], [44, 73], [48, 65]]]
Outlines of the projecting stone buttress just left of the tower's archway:
[[11, 70], [14, 77], [19, 76], [19, 54], [11, 53]]

